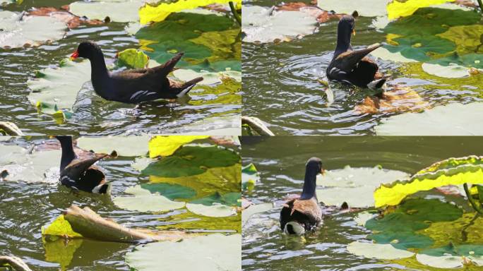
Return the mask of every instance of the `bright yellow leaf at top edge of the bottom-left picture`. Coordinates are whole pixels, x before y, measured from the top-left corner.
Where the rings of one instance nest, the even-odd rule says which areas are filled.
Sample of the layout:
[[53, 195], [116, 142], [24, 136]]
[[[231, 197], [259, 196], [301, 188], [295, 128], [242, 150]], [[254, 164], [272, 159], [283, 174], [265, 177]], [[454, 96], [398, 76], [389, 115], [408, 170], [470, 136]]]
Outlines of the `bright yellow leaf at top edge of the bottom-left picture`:
[[209, 135], [156, 135], [149, 140], [149, 157], [169, 156], [186, 143], [209, 137]]

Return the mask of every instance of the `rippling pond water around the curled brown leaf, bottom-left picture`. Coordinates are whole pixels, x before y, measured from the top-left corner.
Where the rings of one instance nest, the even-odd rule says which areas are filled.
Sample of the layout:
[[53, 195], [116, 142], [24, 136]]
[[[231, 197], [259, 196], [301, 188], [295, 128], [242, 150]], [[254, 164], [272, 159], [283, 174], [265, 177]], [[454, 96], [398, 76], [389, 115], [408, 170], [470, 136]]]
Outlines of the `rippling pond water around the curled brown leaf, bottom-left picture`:
[[[46, 142], [50, 147], [56, 145], [54, 139], [39, 137], [13, 139], [0, 145], [29, 147], [35, 144], [37, 150]], [[58, 159], [60, 162], [60, 157]], [[58, 174], [47, 179], [49, 183], [0, 181], [0, 255], [16, 255], [32, 270], [131, 270], [125, 263], [124, 255], [133, 251], [133, 244], [89, 239], [42, 241], [42, 227], [71, 205], [88, 206], [100, 216], [114, 219], [129, 228], [240, 233], [240, 215], [205, 217], [186, 208], [168, 212], [137, 212], [114, 205], [112, 198], [127, 195], [124, 193], [126, 188], [150, 181], [150, 176], [131, 167], [134, 159], [117, 157], [97, 163], [104, 169], [107, 180], [112, 182], [112, 195], [83, 192], [76, 195], [70, 189], [57, 185]], [[203, 193], [213, 189], [229, 190], [234, 186], [233, 181], [225, 179], [224, 185], [216, 187], [205, 183]], [[196, 190], [196, 193], [200, 192]]]

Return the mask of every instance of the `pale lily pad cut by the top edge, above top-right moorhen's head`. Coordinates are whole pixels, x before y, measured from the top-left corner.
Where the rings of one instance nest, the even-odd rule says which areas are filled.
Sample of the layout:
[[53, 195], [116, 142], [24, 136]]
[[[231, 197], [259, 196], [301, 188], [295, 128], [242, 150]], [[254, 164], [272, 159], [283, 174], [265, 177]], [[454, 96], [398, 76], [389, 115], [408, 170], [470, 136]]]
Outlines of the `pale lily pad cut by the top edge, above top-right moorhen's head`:
[[351, 14], [354, 11], [359, 16], [376, 17], [387, 14], [386, 6], [390, 0], [364, 0], [364, 4], [352, 0], [318, 0], [317, 6], [326, 11]]

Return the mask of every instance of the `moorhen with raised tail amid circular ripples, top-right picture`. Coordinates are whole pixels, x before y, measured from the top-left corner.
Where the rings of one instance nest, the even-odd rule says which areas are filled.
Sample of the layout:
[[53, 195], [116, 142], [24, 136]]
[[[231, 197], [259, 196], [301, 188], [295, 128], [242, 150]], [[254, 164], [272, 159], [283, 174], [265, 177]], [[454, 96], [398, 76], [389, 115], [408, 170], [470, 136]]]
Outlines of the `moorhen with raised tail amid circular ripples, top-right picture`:
[[327, 78], [361, 88], [381, 88], [386, 82], [386, 78], [377, 73], [377, 64], [366, 55], [381, 47], [382, 44], [377, 43], [366, 49], [352, 51], [350, 35], [355, 35], [354, 27], [357, 16], [357, 11], [354, 11], [352, 16], [345, 15], [339, 20], [337, 46], [333, 59], [326, 70]]

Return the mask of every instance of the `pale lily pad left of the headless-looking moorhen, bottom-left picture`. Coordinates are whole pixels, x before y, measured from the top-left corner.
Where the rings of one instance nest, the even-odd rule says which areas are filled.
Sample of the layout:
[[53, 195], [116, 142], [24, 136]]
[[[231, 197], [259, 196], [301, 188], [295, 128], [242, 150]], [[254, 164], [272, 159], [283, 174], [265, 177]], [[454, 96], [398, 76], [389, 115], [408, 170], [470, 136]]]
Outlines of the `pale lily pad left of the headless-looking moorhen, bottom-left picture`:
[[60, 150], [30, 153], [17, 145], [1, 145], [0, 171], [8, 171], [4, 181], [57, 183], [59, 181]]

